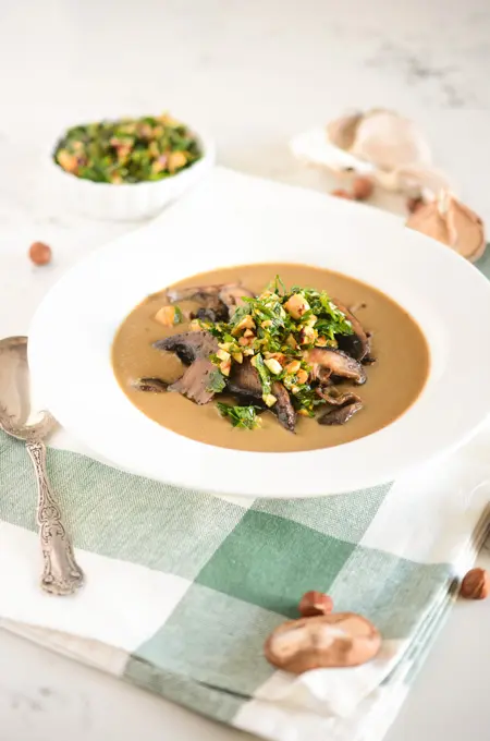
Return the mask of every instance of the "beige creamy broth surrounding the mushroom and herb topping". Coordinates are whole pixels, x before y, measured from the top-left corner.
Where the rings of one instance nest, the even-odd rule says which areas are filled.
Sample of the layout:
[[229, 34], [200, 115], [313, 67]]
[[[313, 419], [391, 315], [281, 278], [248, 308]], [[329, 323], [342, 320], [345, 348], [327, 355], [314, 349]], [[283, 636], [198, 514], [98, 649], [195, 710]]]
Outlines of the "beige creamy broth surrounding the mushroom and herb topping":
[[[260, 293], [280, 275], [287, 288], [303, 286], [326, 290], [346, 306], [366, 304], [356, 316], [372, 332], [371, 354], [377, 363], [366, 366], [364, 386], [344, 384], [362, 398], [364, 409], [345, 425], [322, 426], [316, 420], [298, 416], [296, 434], [285, 430], [272, 413], [260, 415], [262, 426], [248, 430], [233, 428], [211, 401], [198, 406], [179, 393], [149, 393], [132, 387], [143, 377], [176, 379], [183, 366], [173, 353], [162, 353], [151, 344], [171, 333], [186, 331], [187, 325], [162, 327], [155, 320], [166, 303], [162, 294], [146, 299], [120, 327], [112, 348], [117, 379], [124, 393], [144, 414], [180, 435], [222, 448], [285, 452], [329, 448], [370, 435], [387, 426], [419, 396], [429, 368], [427, 342], [412, 317], [380, 291], [346, 276], [307, 265], [261, 264], [223, 268], [194, 276], [180, 287], [241, 282]], [[183, 306], [183, 302], [180, 302]]]

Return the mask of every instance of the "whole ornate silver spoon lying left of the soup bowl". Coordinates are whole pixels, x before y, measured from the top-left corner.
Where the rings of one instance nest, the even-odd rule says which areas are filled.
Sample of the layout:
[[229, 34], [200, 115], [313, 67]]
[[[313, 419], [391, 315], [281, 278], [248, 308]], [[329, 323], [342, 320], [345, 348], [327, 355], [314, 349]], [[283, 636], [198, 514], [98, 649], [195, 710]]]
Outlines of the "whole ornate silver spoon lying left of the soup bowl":
[[49, 486], [42, 442], [58, 423], [49, 412], [40, 412], [37, 421], [30, 423], [30, 413], [27, 338], [8, 337], [0, 340], [0, 428], [25, 441], [36, 471], [37, 524], [44, 559], [41, 587], [50, 594], [72, 594], [82, 586], [84, 574], [75, 561], [60, 507]]

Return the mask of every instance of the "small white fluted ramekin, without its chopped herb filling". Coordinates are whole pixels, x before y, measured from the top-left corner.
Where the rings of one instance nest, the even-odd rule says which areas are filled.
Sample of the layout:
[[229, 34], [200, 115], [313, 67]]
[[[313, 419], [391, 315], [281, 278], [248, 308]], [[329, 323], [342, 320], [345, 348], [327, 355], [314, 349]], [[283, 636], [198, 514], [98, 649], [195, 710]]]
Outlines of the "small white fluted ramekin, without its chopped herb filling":
[[46, 163], [46, 177], [58, 207], [93, 219], [140, 221], [157, 216], [166, 206], [198, 183], [215, 165], [213, 142], [196, 133], [203, 157], [185, 170], [164, 180], [142, 183], [96, 183], [65, 172], [52, 159]]

